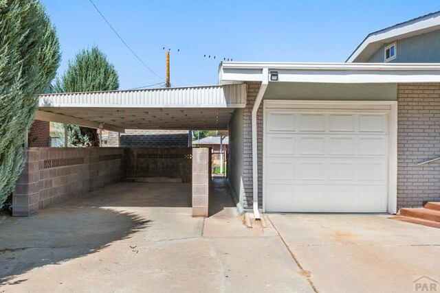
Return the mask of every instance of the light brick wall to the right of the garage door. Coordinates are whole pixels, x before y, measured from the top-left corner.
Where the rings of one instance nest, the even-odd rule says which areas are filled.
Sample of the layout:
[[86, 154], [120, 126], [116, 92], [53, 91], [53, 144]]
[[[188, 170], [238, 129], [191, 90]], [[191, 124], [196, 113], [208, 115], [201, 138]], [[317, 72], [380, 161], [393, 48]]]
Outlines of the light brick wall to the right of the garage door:
[[440, 83], [399, 84], [397, 208], [440, 200]]

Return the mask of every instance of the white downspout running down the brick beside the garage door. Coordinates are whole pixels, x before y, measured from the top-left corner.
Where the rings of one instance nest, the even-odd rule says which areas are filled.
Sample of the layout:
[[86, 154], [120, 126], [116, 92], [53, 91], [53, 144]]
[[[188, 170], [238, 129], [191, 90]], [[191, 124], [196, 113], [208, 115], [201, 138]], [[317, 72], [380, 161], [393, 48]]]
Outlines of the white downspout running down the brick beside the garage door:
[[259, 212], [259, 160], [258, 160], [258, 141], [256, 131], [256, 113], [260, 108], [263, 95], [266, 92], [267, 84], [269, 84], [269, 70], [263, 68], [263, 80], [261, 82], [259, 93], [256, 95], [254, 106], [252, 107], [252, 193], [253, 193], [253, 208], [255, 220], [260, 220]]

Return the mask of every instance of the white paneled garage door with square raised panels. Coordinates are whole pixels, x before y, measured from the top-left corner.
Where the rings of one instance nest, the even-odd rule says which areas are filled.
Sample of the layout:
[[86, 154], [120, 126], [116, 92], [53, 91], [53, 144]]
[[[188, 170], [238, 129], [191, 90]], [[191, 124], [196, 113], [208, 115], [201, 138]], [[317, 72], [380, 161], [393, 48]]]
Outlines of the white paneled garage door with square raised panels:
[[265, 210], [386, 212], [388, 116], [267, 108]]

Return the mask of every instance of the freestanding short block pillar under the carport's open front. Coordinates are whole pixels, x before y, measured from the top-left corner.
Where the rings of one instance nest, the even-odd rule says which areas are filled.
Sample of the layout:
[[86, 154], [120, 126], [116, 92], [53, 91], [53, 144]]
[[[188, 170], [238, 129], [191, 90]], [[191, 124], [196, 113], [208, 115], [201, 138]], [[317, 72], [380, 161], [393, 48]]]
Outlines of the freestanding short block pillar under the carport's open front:
[[208, 217], [210, 150], [192, 149], [192, 217]]

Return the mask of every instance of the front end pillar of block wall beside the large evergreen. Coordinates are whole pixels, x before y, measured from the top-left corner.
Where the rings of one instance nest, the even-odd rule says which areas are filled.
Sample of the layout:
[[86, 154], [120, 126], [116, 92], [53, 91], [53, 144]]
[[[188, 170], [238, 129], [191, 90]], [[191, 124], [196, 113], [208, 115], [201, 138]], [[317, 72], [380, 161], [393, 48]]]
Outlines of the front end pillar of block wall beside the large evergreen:
[[28, 217], [39, 211], [40, 200], [40, 152], [25, 151], [25, 168], [12, 194], [12, 215]]

